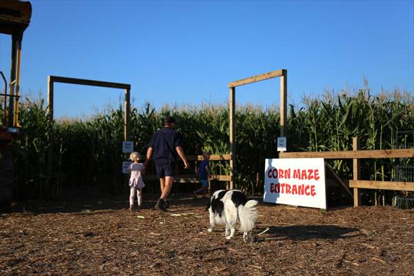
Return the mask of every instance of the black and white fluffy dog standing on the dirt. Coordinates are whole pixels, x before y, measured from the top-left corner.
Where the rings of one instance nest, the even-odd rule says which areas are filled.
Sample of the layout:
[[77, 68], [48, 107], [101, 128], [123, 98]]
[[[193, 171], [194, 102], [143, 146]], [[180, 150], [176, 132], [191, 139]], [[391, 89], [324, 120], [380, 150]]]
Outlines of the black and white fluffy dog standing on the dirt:
[[210, 213], [210, 228], [213, 231], [217, 225], [226, 226], [226, 239], [235, 235], [237, 217], [240, 221], [239, 230], [243, 232], [246, 241], [247, 233], [253, 230], [257, 219], [256, 200], [247, 201], [246, 195], [241, 190], [217, 190], [208, 201], [208, 213]]

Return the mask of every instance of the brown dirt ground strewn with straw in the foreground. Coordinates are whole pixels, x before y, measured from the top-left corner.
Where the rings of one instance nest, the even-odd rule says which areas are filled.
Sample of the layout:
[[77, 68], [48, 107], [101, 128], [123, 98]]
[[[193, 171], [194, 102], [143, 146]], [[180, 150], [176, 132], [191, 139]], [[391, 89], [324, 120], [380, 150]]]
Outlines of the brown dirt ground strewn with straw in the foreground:
[[144, 195], [131, 213], [126, 198], [17, 204], [0, 215], [0, 275], [414, 275], [414, 210], [261, 202], [245, 243], [206, 231], [207, 199], [173, 195], [164, 213]]

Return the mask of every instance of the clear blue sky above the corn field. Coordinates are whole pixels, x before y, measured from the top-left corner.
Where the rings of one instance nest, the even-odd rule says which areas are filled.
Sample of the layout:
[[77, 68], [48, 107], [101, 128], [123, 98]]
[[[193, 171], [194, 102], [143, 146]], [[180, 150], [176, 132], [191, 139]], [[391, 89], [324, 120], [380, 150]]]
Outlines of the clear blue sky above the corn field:
[[[47, 76], [130, 83], [134, 106], [226, 103], [227, 83], [288, 70], [288, 101], [362, 88], [414, 91], [414, 1], [39, 1], [23, 37], [23, 95]], [[0, 36], [10, 76], [11, 38]], [[121, 90], [55, 85], [55, 116], [82, 117]], [[279, 79], [237, 88], [279, 104]]]

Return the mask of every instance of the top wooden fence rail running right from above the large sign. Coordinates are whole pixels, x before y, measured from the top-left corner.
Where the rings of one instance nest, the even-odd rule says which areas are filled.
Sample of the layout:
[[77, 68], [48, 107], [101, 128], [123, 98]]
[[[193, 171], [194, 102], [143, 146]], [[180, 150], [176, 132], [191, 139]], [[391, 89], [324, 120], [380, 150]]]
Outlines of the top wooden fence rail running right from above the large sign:
[[279, 158], [368, 159], [414, 157], [414, 149], [279, 152]]

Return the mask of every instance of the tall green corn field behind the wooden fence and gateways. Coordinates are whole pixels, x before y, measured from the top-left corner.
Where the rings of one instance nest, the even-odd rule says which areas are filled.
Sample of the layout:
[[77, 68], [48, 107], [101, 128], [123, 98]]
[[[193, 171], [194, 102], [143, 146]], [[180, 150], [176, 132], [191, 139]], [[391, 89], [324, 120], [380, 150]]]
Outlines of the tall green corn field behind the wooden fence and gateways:
[[[414, 130], [412, 92], [382, 91], [369, 95], [357, 92], [326, 92], [317, 99], [303, 99], [302, 106], [288, 108], [288, 151], [352, 150], [353, 137], [360, 137], [362, 150], [395, 148], [395, 133]], [[3, 112], [1, 110], [1, 112]], [[177, 121], [186, 155], [229, 153], [228, 106], [164, 106], [156, 110], [150, 103], [131, 108], [130, 139], [135, 150], [145, 155], [152, 133], [162, 126], [165, 115]], [[43, 99], [26, 99], [21, 108], [21, 139], [10, 144], [15, 157], [14, 197], [46, 198], [59, 196], [69, 187], [94, 186], [108, 193], [120, 193], [124, 176], [121, 152], [124, 119], [121, 104], [109, 106], [89, 119], [50, 121]], [[236, 110], [236, 188], [261, 193], [264, 159], [277, 157], [279, 136], [278, 108], [237, 106]], [[398, 138], [399, 145], [412, 143], [413, 135]], [[411, 139], [411, 140], [410, 140]], [[48, 151], [52, 147], [52, 156]], [[48, 171], [48, 159], [53, 167]], [[331, 166], [343, 179], [352, 179], [352, 161], [333, 160]], [[180, 166], [182, 165], [179, 162]], [[228, 162], [212, 161], [213, 174], [228, 174]], [[395, 166], [413, 164], [410, 159], [366, 159], [362, 179], [394, 180]], [[193, 165], [194, 166], [194, 165]], [[195, 168], [181, 173], [191, 173]], [[149, 168], [147, 174], [155, 174]], [[391, 202], [397, 192], [368, 190], [363, 203]]]

